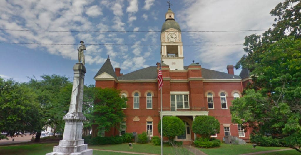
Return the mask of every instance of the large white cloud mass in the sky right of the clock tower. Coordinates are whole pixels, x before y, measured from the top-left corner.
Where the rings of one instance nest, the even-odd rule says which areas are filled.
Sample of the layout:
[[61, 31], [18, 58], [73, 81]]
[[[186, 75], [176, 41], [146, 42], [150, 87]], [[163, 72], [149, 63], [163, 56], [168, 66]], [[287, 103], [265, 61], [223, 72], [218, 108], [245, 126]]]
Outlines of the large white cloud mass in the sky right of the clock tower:
[[[180, 19], [178, 23], [181, 29], [187, 31], [268, 29], [274, 23], [269, 12], [279, 2], [281, 0], [185, 0], [185, 9], [175, 16]], [[246, 35], [262, 32], [194, 32], [188, 36], [193, 40], [189, 44], [243, 44]], [[194, 59], [201, 60], [202, 66], [225, 71], [226, 65], [235, 65], [244, 54], [243, 48], [244, 46], [199, 46], [194, 47], [191, 55], [196, 56]]]

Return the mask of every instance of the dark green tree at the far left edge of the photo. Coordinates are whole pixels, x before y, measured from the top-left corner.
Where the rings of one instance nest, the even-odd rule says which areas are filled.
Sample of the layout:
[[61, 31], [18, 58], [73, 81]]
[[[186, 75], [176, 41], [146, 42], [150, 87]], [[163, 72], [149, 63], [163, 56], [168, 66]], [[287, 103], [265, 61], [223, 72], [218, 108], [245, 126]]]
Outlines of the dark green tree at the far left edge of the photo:
[[[41, 111], [36, 94], [13, 80], [0, 77], [0, 131], [15, 136], [41, 128]], [[4, 139], [6, 136], [1, 136]]]

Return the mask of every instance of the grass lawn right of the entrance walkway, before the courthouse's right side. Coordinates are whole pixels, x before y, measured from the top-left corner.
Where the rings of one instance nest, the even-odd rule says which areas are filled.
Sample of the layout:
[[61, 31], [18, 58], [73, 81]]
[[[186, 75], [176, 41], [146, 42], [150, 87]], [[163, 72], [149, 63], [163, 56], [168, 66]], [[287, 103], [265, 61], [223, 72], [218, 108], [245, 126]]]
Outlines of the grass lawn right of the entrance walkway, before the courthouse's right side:
[[246, 145], [231, 145], [231, 144], [222, 144], [221, 147], [218, 148], [198, 148], [199, 150], [207, 153], [208, 155], [237, 155], [243, 153], [253, 153], [260, 151], [268, 151], [268, 150], [281, 150], [286, 149], [286, 147], [260, 147], [257, 146], [255, 149], [251, 144]]

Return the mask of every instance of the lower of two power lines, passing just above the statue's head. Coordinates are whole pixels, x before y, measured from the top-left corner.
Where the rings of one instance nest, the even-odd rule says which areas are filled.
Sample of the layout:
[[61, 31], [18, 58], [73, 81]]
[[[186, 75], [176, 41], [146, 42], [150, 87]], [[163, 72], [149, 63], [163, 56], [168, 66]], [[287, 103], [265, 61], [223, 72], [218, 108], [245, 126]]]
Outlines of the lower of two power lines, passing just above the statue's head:
[[[52, 43], [13, 43], [0, 42], [0, 44], [29, 44], [29, 45], [79, 45], [79, 44], [52, 44]], [[85, 45], [109, 45], [109, 46], [161, 46], [161, 44], [85, 44]], [[241, 46], [243, 44], [183, 44], [183, 46]]]

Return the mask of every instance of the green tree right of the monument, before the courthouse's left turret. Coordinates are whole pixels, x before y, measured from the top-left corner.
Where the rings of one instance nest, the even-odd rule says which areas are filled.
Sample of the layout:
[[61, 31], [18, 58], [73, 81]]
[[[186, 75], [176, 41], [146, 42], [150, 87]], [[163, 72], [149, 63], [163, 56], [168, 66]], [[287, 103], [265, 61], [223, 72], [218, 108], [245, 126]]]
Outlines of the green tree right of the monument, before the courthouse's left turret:
[[[126, 108], [127, 98], [119, 96], [120, 91], [112, 88], [95, 88], [95, 102], [93, 106], [93, 117], [90, 121], [97, 125], [98, 135], [101, 132], [110, 131], [111, 127], [118, 127], [124, 122], [126, 115], [122, 108]], [[103, 130], [104, 129], [104, 130]]]

